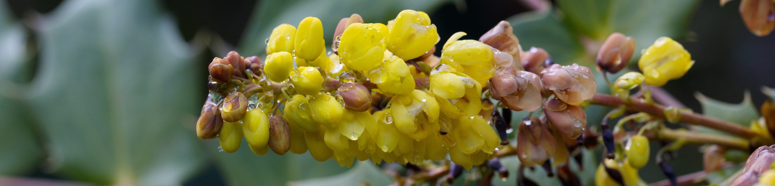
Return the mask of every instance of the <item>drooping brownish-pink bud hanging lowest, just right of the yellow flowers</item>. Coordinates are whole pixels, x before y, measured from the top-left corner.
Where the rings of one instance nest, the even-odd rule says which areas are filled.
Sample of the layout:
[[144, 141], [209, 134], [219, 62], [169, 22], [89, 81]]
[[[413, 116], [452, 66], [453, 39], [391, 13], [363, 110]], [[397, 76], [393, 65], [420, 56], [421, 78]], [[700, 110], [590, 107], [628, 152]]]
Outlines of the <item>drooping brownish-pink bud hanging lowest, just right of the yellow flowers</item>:
[[522, 164], [529, 167], [541, 165], [549, 157], [557, 155], [559, 147], [556, 139], [540, 120], [523, 120], [518, 129], [517, 156]]

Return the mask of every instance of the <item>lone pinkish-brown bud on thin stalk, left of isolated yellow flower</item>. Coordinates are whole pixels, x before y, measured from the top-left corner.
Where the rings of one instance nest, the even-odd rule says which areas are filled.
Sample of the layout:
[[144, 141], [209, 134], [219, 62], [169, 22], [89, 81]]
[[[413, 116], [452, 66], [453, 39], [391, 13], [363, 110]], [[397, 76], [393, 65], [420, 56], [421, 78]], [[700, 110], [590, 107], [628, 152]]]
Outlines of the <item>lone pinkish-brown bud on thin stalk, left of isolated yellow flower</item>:
[[635, 39], [615, 32], [605, 39], [598, 50], [596, 63], [603, 72], [618, 73], [627, 66], [632, 52], [635, 52]]

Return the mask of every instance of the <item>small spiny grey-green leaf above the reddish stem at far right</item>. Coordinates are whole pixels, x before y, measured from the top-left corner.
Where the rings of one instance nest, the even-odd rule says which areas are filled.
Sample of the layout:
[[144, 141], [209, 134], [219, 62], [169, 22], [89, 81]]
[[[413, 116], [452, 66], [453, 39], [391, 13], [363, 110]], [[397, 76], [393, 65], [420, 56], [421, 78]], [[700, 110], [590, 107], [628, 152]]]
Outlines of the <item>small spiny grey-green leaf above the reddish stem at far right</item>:
[[[743, 127], [749, 127], [752, 120], [759, 119], [759, 111], [751, 102], [751, 94], [746, 91], [741, 103], [724, 103], [719, 100], [713, 100], [702, 93], [694, 93], [694, 97], [700, 101], [702, 113], [705, 116], [713, 117], [719, 120], [725, 120], [732, 123], [738, 123]], [[716, 134], [726, 134], [722, 131], [713, 130], [708, 127], [700, 127], [701, 130], [714, 132]]]

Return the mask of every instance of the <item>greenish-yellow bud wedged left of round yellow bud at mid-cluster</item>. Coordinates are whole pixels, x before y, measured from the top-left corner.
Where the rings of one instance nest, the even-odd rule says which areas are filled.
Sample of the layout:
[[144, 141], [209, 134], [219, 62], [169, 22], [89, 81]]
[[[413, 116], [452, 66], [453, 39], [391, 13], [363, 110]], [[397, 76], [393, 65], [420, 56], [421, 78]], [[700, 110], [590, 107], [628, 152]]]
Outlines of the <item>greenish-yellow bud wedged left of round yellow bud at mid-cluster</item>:
[[320, 127], [320, 124], [312, 120], [312, 109], [309, 107], [309, 100], [305, 96], [294, 95], [291, 100], [285, 102], [283, 107], [283, 113], [286, 113], [285, 118], [291, 125], [296, 125], [302, 130], [308, 132], [315, 132]]

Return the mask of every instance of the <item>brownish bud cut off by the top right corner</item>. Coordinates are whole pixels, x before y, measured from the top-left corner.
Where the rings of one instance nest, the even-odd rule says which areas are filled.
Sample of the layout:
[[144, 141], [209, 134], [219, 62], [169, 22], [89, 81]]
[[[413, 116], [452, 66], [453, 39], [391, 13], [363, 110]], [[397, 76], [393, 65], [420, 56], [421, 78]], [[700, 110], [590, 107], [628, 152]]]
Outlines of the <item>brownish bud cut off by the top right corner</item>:
[[773, 7], [771, 0], [742, 0], [740, 1], [740, 16], [753, 35], [767, 36], [775, 28], [773, 8], [775, 7]]

